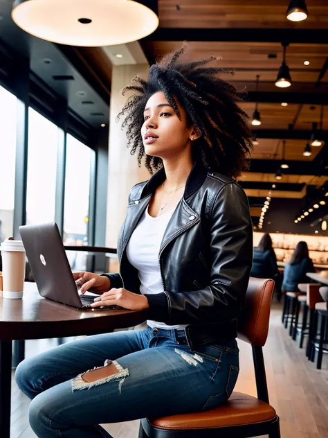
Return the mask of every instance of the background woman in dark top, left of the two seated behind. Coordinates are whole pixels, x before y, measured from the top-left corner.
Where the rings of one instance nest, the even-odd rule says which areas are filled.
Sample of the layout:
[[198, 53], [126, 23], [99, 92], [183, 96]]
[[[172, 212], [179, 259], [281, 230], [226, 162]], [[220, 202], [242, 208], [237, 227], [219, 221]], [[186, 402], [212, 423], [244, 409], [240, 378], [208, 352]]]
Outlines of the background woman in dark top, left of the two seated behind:
[[253, 266], [250, 275], [257, 279], [273, 279], [279, 275], [277, 258], [268, 233], [263, 234], [258, 247], [253, 250]]

